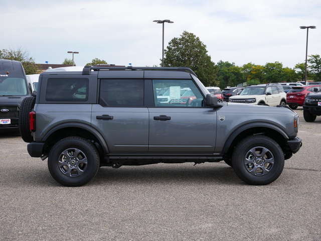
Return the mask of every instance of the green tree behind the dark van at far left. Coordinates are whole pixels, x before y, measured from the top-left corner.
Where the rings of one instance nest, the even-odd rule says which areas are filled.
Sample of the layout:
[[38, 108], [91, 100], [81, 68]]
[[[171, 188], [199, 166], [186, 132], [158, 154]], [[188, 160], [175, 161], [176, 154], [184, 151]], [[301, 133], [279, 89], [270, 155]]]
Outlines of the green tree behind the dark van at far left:
[[29, 57], [29, 52], [26, 49], [19, 47], [16, 49], [3, 49], [0, 50], [0, 59], [17, 60], [24, 66], [26, 74], [37, 74], [40, 66], [35, 63], [32, 57]]

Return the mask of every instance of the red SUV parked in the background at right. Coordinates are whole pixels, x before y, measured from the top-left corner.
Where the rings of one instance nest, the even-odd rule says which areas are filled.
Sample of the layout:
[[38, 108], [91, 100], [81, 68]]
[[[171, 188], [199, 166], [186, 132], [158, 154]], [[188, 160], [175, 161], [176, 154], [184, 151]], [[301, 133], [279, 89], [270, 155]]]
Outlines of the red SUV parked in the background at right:
[[[316, 89], [314, 89], [316, 88]], [[296, 109], [297, 106], [302, 106], [307, 93], [319, 91], [321, 85], [293, 86], [286, 93], [286, 103], [291, 109]]]

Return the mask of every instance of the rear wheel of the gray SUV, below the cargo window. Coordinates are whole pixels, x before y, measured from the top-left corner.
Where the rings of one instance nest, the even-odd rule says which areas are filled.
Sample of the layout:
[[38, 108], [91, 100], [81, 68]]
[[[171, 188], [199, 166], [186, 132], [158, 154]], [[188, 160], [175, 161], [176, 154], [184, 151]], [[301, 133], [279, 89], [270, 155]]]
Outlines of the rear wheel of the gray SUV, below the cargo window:
[[98, 151], [84, 138], [64, 138], [50, 150], [48, 168], [51, 176], [64, 186], [85, 185], [99, 169]]

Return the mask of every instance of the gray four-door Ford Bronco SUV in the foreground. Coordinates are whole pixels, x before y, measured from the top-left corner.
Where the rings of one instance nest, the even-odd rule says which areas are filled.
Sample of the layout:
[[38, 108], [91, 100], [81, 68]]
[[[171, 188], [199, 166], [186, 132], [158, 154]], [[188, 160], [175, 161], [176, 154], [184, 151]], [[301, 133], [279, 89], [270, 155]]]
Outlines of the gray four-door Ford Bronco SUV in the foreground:
[[[164, 89], [169, 102], [157, 98]], [[29, 154], [48, 158], [65, 186], [88, 183], [101, 166], [220, 161], [265, 185], [301, 147], [290, 108], [219, 102], [187, 67], [45, 72], [21, 112]]]

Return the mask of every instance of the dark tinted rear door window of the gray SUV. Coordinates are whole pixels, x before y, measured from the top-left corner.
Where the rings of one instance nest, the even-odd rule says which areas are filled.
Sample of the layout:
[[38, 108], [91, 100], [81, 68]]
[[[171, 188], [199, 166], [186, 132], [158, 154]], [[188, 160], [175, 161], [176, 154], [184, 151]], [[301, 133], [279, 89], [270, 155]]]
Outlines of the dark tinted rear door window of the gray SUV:
[[101, 79], [99, 104], [141, 107], [144, 105], [143, 89], [142, 79]]

